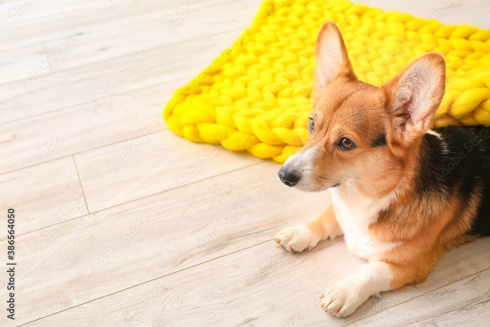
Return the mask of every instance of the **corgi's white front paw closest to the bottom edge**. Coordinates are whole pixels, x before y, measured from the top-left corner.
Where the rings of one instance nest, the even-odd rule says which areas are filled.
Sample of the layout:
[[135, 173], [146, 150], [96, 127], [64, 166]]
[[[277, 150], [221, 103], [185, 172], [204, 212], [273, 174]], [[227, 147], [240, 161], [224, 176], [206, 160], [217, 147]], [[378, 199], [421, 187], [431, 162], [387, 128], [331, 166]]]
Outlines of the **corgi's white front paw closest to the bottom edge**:
[[330, 287], [320, 296], [320, 299], [323, 299], [321, 307], [334, 316], [347, 317], [368, 300], [368, 297], [369, 294], [364, 294], [359, 288], [356, 277], [351, 276]]

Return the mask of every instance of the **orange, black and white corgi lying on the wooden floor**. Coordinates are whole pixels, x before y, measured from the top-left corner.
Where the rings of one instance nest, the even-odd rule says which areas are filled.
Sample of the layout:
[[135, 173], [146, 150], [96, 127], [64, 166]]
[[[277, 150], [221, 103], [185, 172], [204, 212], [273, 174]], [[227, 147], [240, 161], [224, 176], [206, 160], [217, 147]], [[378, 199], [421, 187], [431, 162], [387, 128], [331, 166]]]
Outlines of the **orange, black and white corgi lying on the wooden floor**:
[[345, 317], [370, 296], [424, 281], [445, 249], [490, 235], [490, 128], [429, 129], [445, 62], [427, 53], [381, 87], [357, 79], [341, 32], [325, 23], [315, 45], [310, 139], [278, 175], [330, 206], [282, 230], [290, 252], [344, 235], [368, 263], [320, 296]]

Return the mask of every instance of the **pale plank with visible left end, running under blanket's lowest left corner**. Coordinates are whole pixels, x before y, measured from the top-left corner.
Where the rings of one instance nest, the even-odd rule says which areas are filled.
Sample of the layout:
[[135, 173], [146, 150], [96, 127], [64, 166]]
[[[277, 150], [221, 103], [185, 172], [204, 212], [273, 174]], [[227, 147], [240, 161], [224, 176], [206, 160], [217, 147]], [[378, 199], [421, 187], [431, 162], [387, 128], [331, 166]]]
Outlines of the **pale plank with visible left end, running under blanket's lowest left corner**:
[[191, 143], [171, 130], [75, 155], [89, 212], [262, 160], [220, 146]]

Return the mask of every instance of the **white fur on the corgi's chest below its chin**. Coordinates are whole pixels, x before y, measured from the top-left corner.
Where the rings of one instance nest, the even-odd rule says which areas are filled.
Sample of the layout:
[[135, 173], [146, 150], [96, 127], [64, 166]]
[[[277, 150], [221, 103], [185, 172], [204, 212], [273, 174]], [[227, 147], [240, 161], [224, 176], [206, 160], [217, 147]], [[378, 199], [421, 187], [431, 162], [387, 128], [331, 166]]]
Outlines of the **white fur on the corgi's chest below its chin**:
[[388, 207], [393, 196], [372, 201], [355, 189], [334, 188], [330, 189], [329, 193], [350, 251], [359, 257], [369, 259], [398, 245], [377, 241], [368, 233], [368, 226], [376, 221], [381, 210]]

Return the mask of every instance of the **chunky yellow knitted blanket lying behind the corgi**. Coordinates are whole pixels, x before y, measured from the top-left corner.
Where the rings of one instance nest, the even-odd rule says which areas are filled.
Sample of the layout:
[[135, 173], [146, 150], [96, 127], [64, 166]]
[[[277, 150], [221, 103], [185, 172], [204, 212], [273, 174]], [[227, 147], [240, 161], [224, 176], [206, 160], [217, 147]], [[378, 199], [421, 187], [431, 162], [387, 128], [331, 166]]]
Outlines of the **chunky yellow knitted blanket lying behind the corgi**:
[[283, 163], [308, 141], [320, 26], [334, 21], [359, 79], [380, 86], [418, 56], [446, 59], [435, 126], [490, 125], [490, 31], [345, 0], [265, 0], [252, 25], [164, 109], [170, 129]]

